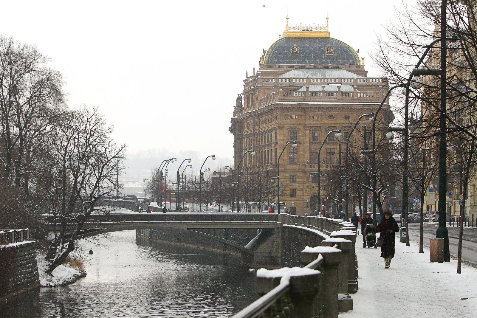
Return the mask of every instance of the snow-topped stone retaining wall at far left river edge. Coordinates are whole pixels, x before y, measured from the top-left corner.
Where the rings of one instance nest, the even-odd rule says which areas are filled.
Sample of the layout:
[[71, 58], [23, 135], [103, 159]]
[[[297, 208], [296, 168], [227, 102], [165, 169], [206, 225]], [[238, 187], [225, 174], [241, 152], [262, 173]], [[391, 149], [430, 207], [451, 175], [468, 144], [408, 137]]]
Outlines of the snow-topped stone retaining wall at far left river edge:
[[0, 298], [40, 287], [35, 242], [0, 246]]

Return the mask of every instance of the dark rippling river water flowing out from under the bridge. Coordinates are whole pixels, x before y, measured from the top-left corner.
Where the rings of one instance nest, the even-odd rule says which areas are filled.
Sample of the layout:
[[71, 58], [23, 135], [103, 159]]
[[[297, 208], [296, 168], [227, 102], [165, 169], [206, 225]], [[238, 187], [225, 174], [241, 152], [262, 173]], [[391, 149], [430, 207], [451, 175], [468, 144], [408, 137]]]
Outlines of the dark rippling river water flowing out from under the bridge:
[[165, 250], [135, 231], [99, 241], [87, 245], [86, 277], [24, 294], [0, 306], [0, 317], [230, 317], [258, 298], [255, 271], [236, 260]]

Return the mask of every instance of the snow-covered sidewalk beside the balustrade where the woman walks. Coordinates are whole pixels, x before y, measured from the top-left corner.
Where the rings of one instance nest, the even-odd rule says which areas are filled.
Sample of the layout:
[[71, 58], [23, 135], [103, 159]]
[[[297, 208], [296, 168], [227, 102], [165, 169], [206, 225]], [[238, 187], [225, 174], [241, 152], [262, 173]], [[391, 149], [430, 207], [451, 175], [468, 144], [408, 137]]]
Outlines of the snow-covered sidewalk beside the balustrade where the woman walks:
[[340, 318], [362, 317], [477, 317], [477, 269], [457, 261], [431, 263], [429, 250], [419, 254], [419, 246], [406, 247], [396, 236], [396, 253], [389, 269], [379, 257], [381, 249], [362, 248], [357, 237], [359, 290], [353, 297], [353, 310]]

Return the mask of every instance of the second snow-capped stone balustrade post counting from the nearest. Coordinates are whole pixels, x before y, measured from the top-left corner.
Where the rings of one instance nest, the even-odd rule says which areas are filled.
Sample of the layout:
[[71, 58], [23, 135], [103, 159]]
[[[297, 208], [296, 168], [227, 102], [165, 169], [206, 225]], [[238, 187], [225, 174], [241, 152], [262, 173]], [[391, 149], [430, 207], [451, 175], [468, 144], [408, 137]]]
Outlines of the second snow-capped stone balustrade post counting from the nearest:
[[[329, 246], [306, 247], [301, 251], [301, 263], [310, 264], [320, 254], [323, 256], [323, 272], [321, 276], [321, 293], [324, 318], [338, 318], [338, 266], [341, 262], [341, 251]], [[310, 317], [310, 316], [303, 316]]]

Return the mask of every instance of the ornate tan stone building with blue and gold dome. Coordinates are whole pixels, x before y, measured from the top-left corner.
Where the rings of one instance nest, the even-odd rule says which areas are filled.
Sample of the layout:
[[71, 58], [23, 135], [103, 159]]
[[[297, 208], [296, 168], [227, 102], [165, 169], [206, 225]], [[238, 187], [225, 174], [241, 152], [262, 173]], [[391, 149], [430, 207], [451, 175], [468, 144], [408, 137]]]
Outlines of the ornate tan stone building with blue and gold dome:
[[[318, 158], [323, 178], [338, 164], [339, 144], [346, 143], [357, 118], [373, 113], [387, 88], [384, 78], [367, 76], [358, 51], [330, 37], [328, 17], [320, 26], [289, 25], [287, 16], [285, 30], [263, 51], [257, 72], [255, 67], [251, 75], [246, 72], [237, 97], [229, 128], [234, 135], [234, 167], [246, 151], [254, 150], [255, 156], [244, 156], [239, 171], [245, 177], [276, 176], [284, 145], [296, 141], [298, 147], [286, 148], [280, 157], [280, 202], [297, 215], [319, 211], [316, 174], [310, 176], [318, 171]], [[388, 103], [381, 117], [389, 123], [394, 116], [386, 109]], [[338, 129], [343, 137], [330, 135], [319, 155], [328, 132]], [[326, 197], [321, 180], [321, 197]], [[329, 200], [326, 209], [332, 213], [338, 207]]]

